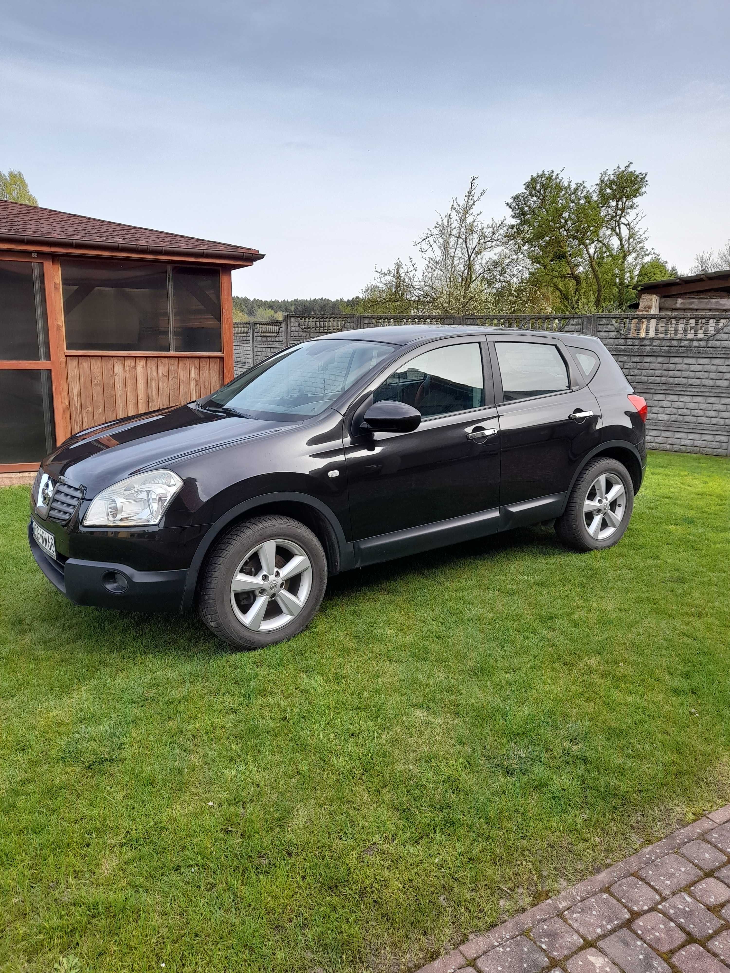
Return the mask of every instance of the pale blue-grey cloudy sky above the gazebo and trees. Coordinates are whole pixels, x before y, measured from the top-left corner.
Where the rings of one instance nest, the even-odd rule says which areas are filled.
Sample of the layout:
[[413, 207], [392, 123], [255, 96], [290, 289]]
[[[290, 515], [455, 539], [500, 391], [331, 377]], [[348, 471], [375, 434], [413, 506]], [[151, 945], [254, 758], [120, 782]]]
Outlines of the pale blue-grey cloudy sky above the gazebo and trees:
[[0, 5], [0, 169], [41, 205], [257, 247], [249, 297], [350, 297], [472, 174], [648, 171], [686, 270], [730, 236], [728, 0]]

